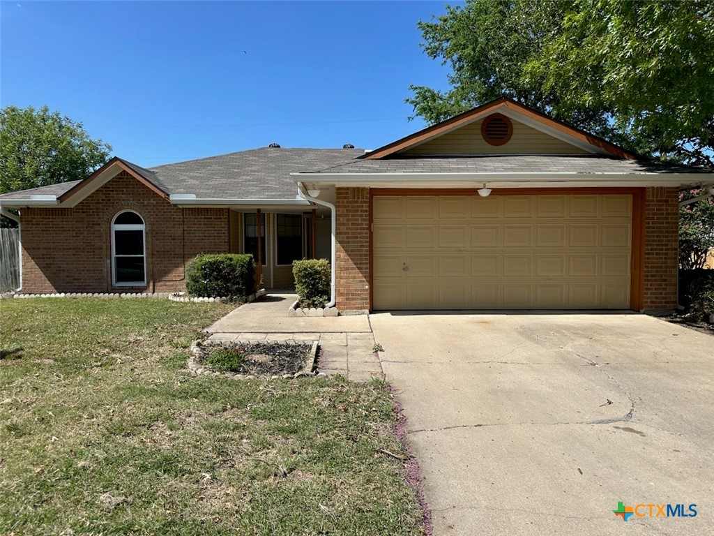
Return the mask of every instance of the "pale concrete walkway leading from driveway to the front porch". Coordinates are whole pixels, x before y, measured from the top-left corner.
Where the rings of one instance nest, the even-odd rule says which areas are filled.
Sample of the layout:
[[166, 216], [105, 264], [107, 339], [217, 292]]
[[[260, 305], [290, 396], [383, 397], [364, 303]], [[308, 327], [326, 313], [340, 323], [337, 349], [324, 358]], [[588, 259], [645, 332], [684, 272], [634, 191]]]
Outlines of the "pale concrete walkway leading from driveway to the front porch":
[[372, 352], [374, 337], [366, 314], [347, 317], [288, 317], [295, 294], [266, 294], [241, 305], [206, 328], [212, 341], [318, 341], [318, 370], [341, 374], [354, 382], [382, 377]]

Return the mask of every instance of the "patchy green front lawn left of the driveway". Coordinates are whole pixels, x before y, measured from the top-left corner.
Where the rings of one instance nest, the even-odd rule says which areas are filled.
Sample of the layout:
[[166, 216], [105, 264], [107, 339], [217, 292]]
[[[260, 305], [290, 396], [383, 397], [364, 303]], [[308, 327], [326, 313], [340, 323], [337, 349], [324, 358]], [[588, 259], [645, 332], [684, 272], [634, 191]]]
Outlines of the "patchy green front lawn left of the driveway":
[[380, 384], [181, 370], [229, 309], [1, 300], [0, 534], [421, 534]]

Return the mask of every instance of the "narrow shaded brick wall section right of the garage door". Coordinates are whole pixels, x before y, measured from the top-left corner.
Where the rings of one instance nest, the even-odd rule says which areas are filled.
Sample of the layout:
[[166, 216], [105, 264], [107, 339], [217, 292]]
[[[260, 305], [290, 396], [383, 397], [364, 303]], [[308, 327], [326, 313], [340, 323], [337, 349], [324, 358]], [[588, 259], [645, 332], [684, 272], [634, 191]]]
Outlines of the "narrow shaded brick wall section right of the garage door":
[[645, 192], [645, 310], [677, 307], [679, 198], [676, 188]]

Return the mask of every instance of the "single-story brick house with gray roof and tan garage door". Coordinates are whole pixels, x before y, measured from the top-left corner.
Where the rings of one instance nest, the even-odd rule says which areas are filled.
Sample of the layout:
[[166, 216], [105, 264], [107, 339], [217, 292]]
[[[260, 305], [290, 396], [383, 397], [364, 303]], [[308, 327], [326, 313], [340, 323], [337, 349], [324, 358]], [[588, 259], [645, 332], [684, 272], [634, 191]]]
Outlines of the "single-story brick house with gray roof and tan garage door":
[[249, 252], [268, 287], [332, 259], [341, 310], [677, 304], [678, 189], [642, 159], [510, 99], [365, 151], [271, 147], [0, 196], [20, 292], [174, 292], [201, 252]]

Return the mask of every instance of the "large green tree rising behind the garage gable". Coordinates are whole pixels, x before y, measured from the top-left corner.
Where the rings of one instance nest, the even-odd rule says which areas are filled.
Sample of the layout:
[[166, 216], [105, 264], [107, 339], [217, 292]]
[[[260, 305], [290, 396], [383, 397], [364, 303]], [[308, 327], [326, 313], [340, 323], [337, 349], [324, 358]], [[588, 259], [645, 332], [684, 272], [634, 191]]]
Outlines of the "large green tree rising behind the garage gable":
[[498, 96], [662, 159], [714, 165], [714, 1], [466, 0], [420, 21], [451, 89], [411, 86], [435, 123]]

